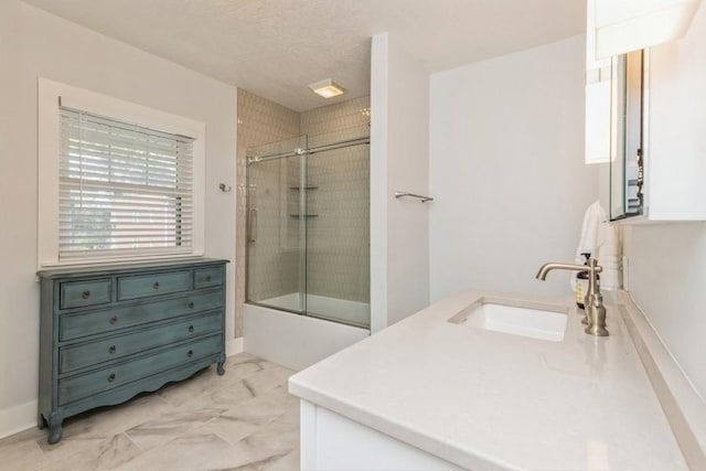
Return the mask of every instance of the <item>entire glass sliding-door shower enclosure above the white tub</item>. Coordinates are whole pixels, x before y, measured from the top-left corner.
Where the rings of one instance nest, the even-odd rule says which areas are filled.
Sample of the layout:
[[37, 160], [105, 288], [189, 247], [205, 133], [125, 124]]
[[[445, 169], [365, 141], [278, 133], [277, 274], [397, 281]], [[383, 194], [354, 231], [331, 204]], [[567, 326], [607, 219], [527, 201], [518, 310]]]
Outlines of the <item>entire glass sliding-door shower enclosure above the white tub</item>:
[[247, 302], [370, 329], [370, 128], [247, 152]]

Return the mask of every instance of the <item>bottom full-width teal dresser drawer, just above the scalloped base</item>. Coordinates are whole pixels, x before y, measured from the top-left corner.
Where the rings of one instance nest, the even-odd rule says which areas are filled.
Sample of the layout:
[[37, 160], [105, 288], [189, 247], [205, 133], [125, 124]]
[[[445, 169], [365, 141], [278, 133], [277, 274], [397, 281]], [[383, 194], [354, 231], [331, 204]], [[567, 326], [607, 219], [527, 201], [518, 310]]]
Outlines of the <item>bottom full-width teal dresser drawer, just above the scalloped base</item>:
[[65, 405], [191, 361], [218, 354], [223, 349], [222, 343], [221, 335], [212, 335], [141, 356], [130, 362], [60, 379], [58, 404]]

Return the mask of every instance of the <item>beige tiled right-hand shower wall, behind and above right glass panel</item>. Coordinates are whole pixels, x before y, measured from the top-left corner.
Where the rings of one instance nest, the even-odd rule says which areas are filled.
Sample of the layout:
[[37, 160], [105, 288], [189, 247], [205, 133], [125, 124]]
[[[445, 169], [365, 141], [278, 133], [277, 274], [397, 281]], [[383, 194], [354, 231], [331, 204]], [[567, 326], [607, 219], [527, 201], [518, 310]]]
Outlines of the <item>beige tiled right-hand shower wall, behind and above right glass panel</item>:
[[[362, 97], [303, 111], [300, 131], [333, 142], [368, 124], [370, 97]], [[308, 212], [318, 214], [307, 231], [309, 295], [370, 302], [368, 154], [354, 146], [309, 157], [309, 185], [318, 186], [308, 193]]]

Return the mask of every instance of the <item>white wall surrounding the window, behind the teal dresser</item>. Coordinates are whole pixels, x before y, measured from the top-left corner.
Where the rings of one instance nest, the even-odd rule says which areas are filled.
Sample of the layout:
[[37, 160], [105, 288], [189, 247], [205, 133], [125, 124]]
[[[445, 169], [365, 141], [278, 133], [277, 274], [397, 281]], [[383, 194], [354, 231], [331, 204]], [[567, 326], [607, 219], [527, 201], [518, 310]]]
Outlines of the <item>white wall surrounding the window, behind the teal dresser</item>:
[[0, 436], [36, 424], [36, 78], [206, 124], [206, 255], [231, 259], [234, 331], [236, 90], [17, 0], [0, 2]]

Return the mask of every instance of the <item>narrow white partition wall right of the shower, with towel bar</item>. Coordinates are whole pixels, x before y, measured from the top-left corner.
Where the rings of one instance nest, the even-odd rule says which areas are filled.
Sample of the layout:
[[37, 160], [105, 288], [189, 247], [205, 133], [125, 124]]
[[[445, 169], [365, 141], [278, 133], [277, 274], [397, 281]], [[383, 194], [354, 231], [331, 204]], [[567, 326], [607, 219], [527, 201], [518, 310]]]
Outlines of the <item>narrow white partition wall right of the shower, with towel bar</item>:
[[429, 304], [429, 76], [387, 33], [373, 36], [371, 66], [371, 329]]

